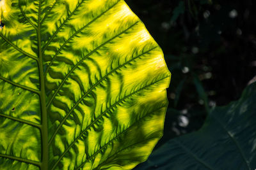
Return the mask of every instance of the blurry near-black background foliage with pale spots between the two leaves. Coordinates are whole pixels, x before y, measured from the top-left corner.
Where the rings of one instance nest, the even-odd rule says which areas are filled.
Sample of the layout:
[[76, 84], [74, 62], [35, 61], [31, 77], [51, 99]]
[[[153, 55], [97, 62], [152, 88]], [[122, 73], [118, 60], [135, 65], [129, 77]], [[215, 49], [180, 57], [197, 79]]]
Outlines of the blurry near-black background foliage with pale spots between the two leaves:
[[172, 73], [164, 136], [193, 132], [207, 111], [239, 99], [256, 75], [256, 1], [126, 0]]

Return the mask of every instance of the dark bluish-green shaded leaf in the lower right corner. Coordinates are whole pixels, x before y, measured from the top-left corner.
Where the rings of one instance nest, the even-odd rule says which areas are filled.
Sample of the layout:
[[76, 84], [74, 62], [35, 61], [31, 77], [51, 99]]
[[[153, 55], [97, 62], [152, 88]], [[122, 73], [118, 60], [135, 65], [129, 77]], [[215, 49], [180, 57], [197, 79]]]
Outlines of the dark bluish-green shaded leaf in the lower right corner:
[[198, 132], [171, 139], [138, 169], [256, 168], [256, 83], [239, 101], [211, 111]]

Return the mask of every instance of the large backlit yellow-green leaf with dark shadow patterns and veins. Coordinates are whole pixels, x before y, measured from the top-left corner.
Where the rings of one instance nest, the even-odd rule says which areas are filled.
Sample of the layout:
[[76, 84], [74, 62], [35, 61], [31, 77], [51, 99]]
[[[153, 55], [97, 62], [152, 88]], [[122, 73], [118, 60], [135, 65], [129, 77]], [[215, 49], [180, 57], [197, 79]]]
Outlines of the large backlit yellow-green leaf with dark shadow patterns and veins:
[[163, 134], [170, 73], [127, 4], [0, 4], [0, 169], [145, 161]]

